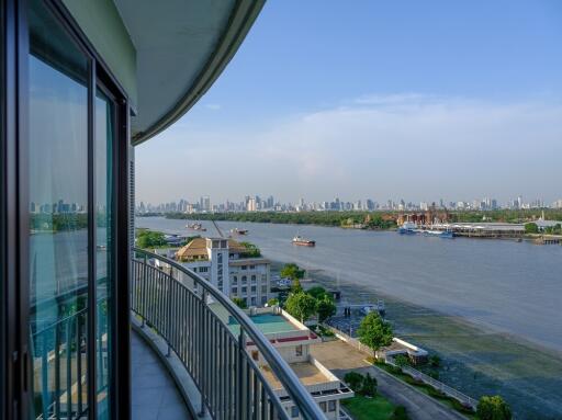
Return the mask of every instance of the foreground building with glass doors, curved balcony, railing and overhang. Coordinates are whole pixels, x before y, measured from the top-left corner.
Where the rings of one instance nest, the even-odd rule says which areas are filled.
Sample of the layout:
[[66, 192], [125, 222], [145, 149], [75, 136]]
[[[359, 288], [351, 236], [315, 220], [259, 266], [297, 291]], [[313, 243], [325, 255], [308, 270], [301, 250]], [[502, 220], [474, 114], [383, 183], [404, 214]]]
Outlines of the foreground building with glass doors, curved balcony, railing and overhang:
[[205, 94], [263, 3], [0, 0], [1, 420], [290, 419], [249, 340], [325, 417], [225, 294], [228, 247], [211, 246], [225, 293], [134, 248], [135, 147]]

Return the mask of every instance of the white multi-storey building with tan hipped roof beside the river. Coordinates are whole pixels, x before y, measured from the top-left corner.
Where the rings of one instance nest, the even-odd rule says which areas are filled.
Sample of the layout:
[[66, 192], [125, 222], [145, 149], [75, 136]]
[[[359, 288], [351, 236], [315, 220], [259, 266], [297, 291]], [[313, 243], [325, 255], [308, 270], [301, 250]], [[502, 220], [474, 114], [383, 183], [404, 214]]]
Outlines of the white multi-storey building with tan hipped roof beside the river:
[[195, 238], [180, 248], [175, 258], [231, 298], [239, 297], [247, 306], [263, 306], [268, 302], [270, 262], [248, 257], [248, 250], [233, 239]]

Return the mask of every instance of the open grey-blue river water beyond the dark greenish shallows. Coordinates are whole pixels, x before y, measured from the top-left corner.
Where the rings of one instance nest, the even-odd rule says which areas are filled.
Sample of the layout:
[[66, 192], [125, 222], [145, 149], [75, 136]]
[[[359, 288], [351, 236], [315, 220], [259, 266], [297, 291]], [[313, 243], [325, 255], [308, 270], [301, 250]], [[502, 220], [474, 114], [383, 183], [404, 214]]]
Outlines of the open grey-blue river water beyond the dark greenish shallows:
[[[137, 227], [193, 235], [187, 220], [137, 218]], [[562, 351], [562, 247], [479, 239], [218, 222], [239, 227], [274, 261], [292, 261], [448, 315]], [[203, 223], [209, 236], [217, 235]], [[296, 247], [300, 234], [315, 248]]]

